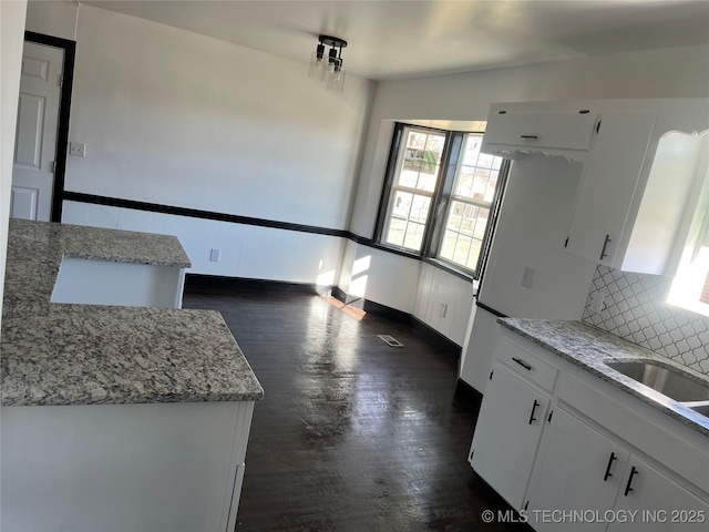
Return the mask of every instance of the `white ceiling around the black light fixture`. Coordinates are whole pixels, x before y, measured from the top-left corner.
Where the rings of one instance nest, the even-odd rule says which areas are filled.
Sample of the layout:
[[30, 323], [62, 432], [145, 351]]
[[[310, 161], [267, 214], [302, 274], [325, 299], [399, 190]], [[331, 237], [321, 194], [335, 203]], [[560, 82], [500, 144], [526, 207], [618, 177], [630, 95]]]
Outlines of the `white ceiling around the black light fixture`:
[[[319, 33], [349, 41], [373, 80], [709, 43], [706, 0], [95, 0], [132, 14], [308, 61]], [[709, 58], [708, 58], [709, 60]]]

